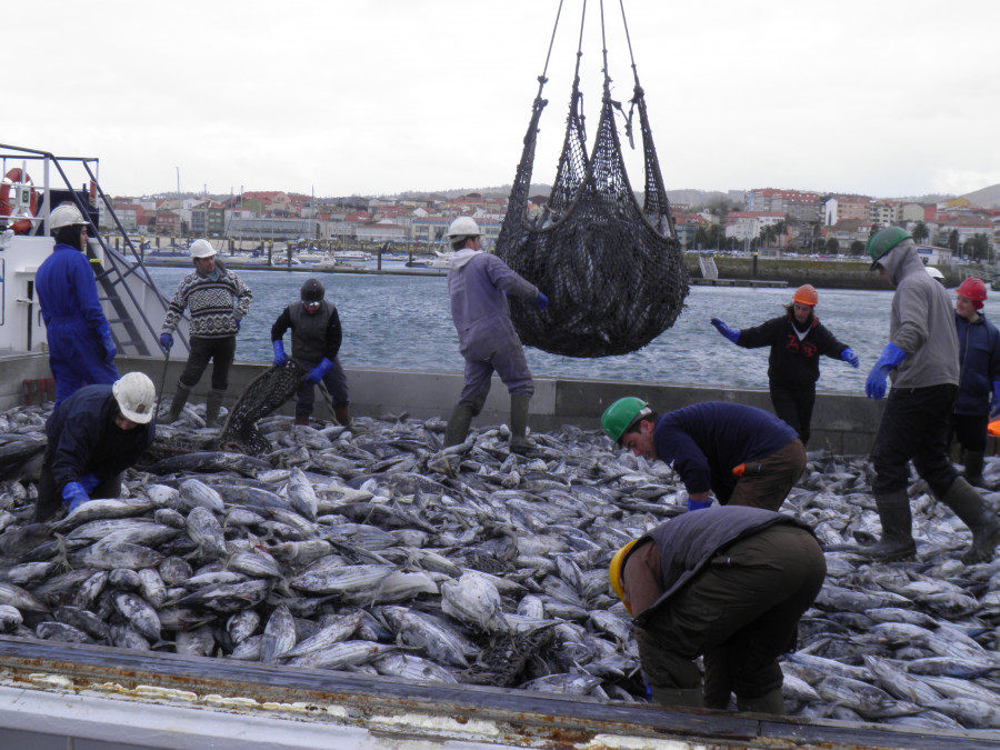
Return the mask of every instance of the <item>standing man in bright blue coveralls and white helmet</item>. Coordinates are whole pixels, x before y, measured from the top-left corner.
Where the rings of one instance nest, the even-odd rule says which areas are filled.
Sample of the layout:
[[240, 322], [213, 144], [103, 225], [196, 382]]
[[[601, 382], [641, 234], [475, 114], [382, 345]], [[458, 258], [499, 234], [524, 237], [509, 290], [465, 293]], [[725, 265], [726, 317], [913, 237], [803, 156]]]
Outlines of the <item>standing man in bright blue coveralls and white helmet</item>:
[[49, 216], [56, 247], [34, 274], [57, 406], [83, 386], [118, 379], [118, 350], [86, 256], [88, 227], [76, 206], [57, 206]]

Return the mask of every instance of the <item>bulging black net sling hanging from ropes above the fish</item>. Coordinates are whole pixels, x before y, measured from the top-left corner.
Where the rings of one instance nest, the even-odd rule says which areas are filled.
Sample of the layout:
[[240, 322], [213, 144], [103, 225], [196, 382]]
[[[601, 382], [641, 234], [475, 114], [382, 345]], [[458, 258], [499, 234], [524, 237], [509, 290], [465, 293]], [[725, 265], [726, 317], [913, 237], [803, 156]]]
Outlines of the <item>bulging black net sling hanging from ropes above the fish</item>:
[[[553, 41], [561, 12], [560, 0]], [[583, 18], [586, 13], [584, 0]], [[496, 253], [549, 298], [544, 310], [511, 299], [511, 318], [522, 343], [553, 354], [592, 358], [636, 351], [670, 328], [688, 294], [688, 271], [670, 214], [622, 6], [634, 77], [626, 134], [631, 143], [632, 113], [638, 110], [646, 167], [641, 208], [629, 183], [614, 122], [614, 111], [624, 112], [621, 103], [611, 99], [603, 0], [603, 97], [593, 150], [587, 153], [580, 91], [583, 18], [566, 139], [552, 192], [540, 211], [529, 214], [538, 123], [548, 104], [542, 89], [548, 82], [550, 41]]]

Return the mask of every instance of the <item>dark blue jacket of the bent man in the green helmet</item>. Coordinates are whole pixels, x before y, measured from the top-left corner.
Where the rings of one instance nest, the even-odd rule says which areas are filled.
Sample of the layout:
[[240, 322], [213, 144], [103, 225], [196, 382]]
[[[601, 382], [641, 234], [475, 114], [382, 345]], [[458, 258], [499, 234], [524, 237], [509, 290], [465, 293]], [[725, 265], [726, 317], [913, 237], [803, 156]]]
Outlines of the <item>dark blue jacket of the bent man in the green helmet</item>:
[[763, 409], [707, 401], [657, 418], [657, 457], [673, 467], [688, 492], [716, 493], [726, 503], [739, 479], [732, 470], [771, 456], [798, 438]]

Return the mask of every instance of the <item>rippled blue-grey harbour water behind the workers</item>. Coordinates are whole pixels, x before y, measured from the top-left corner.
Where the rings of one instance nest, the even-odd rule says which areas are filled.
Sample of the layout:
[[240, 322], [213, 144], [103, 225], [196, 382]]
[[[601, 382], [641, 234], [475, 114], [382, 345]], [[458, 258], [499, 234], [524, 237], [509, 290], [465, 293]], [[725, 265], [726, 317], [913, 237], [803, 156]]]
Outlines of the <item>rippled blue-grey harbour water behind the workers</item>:
[[[189, 268], [150, 268], [159, 289], [172, 298]], [[253, 291], [250, 314], [237, 340], [237, 359], [272, 357], [271, 326], [298, 299], [302, 282], [316, 277], [337, 304], [343, 327], [341, 362], [346, 367], [393, 368], [424, 372], [460, 372], [463, 360], [451, 323], [446, 278], [441, 274], [377, 276], [323, 271], [236, 271]], [[527, 349], [532, 374], [540, 378], [596, 378], [671, 384], [766, 388], [769, 349], [740, 349], [722, 338], [709, 320], [733, 328], [757, 326], [783, 314], [792, 289], [691, 287], [674, 326], [643, 349], [619, 357], [577, 359]], [[949, 292], [954, 298], [953, 291]], [[817, 316], [861, 359], [852, 369], [823, 358], [818, 388], [864, 392], [864, 379], [886, 346], [892, 290], [820, 289]], [[997, 313], [993, 313], [993, 309]], [[1000, 301], [986, 303], [1000, 319]], [[289, 337], [284, 337], [289, 347]]]

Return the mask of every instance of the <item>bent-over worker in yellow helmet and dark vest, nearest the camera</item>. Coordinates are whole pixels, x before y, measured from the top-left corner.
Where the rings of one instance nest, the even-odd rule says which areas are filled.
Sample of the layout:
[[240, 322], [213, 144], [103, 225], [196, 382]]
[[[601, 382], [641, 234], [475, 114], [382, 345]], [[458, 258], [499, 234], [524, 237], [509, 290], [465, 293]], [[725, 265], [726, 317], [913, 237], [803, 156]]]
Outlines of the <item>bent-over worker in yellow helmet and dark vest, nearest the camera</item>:
[[[784, 713], [778, 657], [827, 574], [790, 516], [726, 506], [684, 513], [626, 544], [611, 588], [633, 616], [642, 670], [666, 706]], [[704, 656], [704, 688], [693, 663]]]

